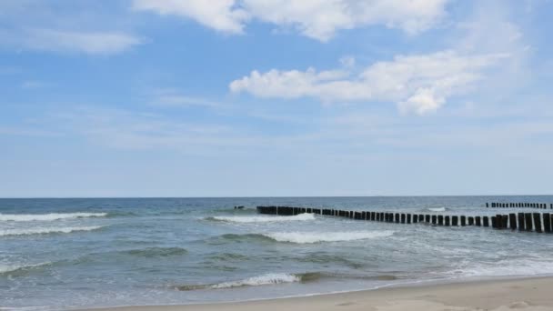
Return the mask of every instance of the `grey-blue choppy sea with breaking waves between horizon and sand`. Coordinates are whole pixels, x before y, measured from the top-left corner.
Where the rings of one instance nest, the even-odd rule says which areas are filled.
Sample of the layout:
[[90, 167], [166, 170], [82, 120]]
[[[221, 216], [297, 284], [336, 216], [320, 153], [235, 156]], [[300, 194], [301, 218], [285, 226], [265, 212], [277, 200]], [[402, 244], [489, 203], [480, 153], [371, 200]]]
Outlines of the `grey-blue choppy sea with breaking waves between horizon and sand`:
[[0, 199], [0, 309], [204, 304], [553, 274], [553, 235], [256, 212], [499, 212], [486, 202], [553, 196]]

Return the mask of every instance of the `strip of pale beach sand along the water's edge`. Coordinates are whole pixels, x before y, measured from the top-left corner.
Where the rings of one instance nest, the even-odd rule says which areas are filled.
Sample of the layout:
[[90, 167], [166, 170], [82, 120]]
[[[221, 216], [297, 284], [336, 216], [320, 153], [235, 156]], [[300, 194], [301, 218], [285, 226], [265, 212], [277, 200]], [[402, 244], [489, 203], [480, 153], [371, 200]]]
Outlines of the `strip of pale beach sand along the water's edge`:
[[[97, 310], [97, 309], [96, 309]], [[553, 277], [471, 281], [428, 286], [188, 306], [125, 306], [105, 311], [461, 311], [553, 310]]]

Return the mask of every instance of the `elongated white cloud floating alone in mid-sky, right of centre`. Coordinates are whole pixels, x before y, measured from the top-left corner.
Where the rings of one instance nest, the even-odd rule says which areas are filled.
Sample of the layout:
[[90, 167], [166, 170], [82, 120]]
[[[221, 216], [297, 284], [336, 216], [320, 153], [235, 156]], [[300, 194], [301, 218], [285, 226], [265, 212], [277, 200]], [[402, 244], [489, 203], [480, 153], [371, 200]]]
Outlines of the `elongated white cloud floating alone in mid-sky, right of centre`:
[[229, 87], [233, 93], [247, 92], [258, 97], [393, 101], [402, 112], [423, 115], [436, 111], [448, 96], [467, 92], [505, 57], [508, 55], [459, 55], [454, 51], [398, 55], [392, 61], [369, 65], [358, 75], [344, 69], [273, 69], [266, 73], [254, 70]]

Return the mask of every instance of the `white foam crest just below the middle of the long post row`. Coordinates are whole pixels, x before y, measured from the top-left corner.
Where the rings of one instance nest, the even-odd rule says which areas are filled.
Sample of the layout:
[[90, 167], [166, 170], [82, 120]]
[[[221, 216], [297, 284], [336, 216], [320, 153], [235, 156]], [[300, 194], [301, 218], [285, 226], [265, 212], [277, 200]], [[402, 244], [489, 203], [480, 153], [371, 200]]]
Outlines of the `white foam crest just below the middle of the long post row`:
[[394, 231], [351, 231], [351, 232], [277, 232], [263, 234], [278, 242], [311, 244], [320, 242], [342, 242], [392, 236]]

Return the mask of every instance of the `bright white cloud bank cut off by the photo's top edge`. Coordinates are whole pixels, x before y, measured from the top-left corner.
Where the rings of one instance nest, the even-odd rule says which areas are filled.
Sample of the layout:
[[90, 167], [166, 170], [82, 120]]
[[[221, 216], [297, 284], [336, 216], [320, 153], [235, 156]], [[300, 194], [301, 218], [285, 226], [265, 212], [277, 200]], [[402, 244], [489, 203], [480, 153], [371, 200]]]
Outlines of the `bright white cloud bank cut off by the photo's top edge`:
[[135, 0], [136, 10], [180, 15], [227, 33], [242, 33], [249, 20], [291, 27], [327, 41], [341, 29], [385, 25], [414, 35], [436, 25], [448, 0]]

